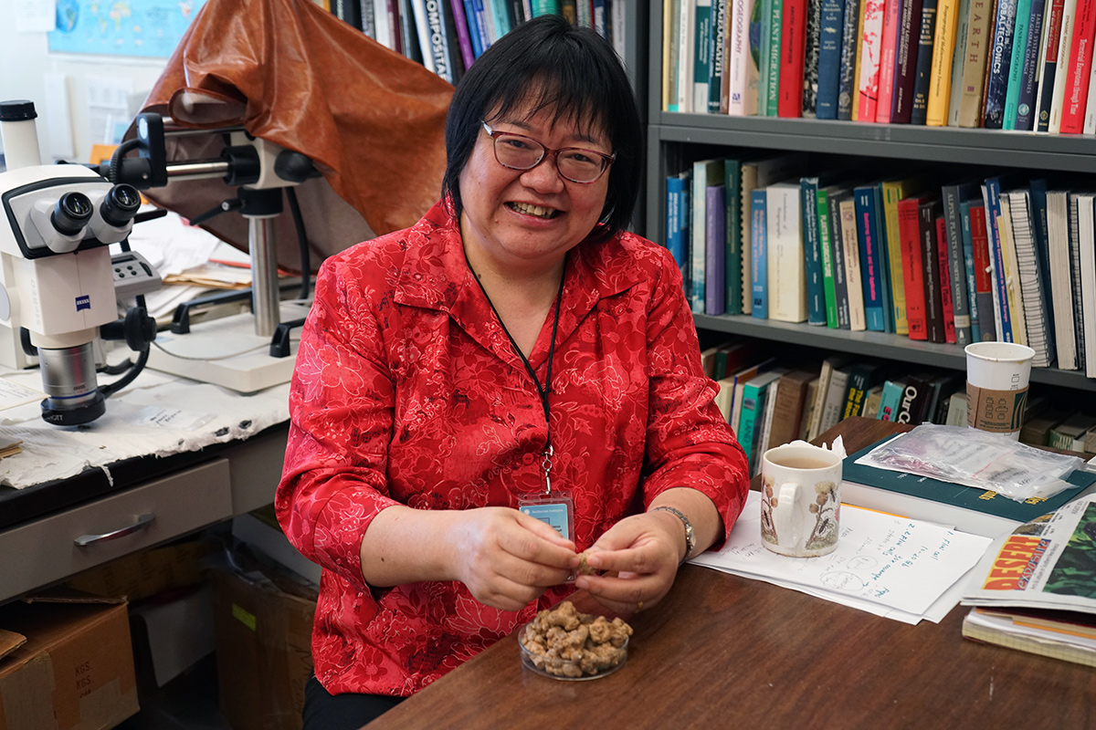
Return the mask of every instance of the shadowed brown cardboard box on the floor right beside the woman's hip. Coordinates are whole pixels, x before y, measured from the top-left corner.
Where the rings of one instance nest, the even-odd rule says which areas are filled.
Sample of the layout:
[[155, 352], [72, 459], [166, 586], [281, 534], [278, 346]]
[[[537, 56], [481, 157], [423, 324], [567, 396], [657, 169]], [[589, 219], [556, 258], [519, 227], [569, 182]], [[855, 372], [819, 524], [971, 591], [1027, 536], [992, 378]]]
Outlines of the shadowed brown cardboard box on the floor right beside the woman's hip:
[[233, 730], [300, 730], [316, 590], [273, 570], [214, 570], [220, 714]]

